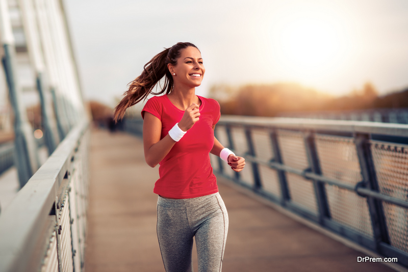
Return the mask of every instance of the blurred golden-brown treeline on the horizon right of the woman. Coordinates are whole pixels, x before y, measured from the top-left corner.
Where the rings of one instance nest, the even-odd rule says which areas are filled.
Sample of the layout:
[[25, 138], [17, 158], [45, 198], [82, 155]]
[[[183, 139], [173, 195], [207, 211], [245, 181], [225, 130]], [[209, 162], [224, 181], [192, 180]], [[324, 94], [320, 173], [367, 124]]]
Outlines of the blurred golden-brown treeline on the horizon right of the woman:
[[408, 89], [378, 97], [373, 84], [335, 97], [295, 83], [245, 85], [232, 87], [214, 85], [210, 97], [218, 100], [221, 114], [277, 116], [284, 112], [344, 111], [374, 107], [408, 107]]

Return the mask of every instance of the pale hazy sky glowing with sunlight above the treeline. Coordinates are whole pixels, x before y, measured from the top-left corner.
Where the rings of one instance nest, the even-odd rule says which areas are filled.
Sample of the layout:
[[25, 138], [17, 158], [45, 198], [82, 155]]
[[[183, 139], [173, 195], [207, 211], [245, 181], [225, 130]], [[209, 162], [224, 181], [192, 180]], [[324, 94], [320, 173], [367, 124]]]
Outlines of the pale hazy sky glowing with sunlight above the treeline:
[[216, 84], [295, 82], [344, 95], [408, 87], [406, 0], [64, 1], [87, 99], [114, 106], [153, 56], [194, 43]]

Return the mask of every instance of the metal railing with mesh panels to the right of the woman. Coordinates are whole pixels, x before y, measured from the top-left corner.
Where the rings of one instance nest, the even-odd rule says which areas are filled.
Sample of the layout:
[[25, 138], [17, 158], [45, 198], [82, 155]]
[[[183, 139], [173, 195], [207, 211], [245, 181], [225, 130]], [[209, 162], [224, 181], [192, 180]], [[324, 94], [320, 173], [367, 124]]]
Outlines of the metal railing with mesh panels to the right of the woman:
[[245, 157], [214, 171], [408, 266], [408, 125], [223, 116], [217, 139]]

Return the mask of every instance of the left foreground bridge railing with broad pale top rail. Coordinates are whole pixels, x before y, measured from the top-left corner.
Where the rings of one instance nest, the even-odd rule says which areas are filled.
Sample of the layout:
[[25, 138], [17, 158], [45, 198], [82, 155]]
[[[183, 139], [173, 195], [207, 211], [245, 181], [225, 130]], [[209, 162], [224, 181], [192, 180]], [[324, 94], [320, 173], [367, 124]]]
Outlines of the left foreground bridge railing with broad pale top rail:
[[72, 128], [2, 211], [0, 271], [83, 270], [89, 137]]

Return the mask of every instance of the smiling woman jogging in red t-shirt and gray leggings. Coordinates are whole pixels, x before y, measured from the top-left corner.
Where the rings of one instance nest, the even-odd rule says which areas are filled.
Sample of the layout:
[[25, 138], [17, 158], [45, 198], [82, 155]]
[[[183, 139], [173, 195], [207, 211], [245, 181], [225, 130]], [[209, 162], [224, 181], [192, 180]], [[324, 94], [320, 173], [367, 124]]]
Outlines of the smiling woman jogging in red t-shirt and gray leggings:
[[[220, 106], [195, 95], [206, 69], [192, 43], [177, 43], [152, 58], [115, 108], [115, 120], [149, 94], [142, 110], [144, 156], [150, 167], [160, 164], [154, 192], [157, 236], [167, 272], [192, 271], [195, 237], [198, 270], [221, 271], [228, 231], [228, 214], [210, 164], [220, 156], [235, 172], [245, 159], [224, 148], [214, 137]], [[153, 89], [164, 79], [158, 93]], [[163, 83], [163, 82], [161, 82]]]

